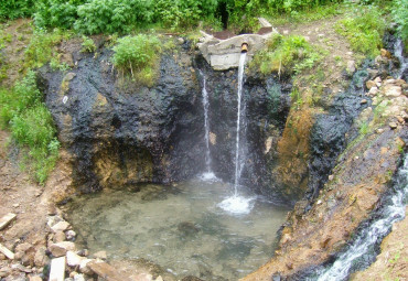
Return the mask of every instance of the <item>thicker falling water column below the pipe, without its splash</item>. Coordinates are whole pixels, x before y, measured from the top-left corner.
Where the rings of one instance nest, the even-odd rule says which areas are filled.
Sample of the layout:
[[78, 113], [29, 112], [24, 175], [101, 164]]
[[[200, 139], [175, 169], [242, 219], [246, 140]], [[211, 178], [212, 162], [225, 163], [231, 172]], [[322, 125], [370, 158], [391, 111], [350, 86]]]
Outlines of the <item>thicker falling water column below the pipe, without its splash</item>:
[[234, 196], [238, 196], [238, 184], [241, 172], [241, 166], [244, 163], [243, 156], [239, 152], [239, 134], [240, 134], [240, 104], [243, 99], [243, 80], [244, 80], [244, 69], [245, 69], [245, 58], [247, 56], [246, 52], [240, 53], [239, 67], [238, 67], [238, 108], [237, 108], [237, 134], [235, 143], [235, 181], [234, 181]]

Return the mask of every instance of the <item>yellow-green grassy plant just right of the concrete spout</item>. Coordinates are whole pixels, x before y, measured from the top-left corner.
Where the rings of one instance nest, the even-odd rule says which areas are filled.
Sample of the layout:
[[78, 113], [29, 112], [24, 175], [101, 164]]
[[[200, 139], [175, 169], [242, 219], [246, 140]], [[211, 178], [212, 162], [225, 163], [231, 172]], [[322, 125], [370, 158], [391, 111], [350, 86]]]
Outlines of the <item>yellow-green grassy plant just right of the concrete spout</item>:
[[273, 35], [267, 48], [259, 52], [250, 67], [259, 68], [262, 74], [277, 72], [280, 74], [300, 73], [312, 68], [322, 54], [312, 47], [303, 36], [282, 36]]

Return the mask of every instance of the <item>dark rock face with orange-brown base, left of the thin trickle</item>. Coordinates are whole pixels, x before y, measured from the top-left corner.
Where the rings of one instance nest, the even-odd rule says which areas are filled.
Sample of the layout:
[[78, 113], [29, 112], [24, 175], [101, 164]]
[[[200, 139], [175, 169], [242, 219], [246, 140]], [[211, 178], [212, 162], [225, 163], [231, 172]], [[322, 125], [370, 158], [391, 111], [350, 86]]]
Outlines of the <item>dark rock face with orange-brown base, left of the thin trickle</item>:
[[76, 185], [167, 183], [200, 172], [203, 115], [191, 62], [163, 55], [157, 85], [147, 88], [119, 77], [110, 55], [74, 52], [69, 73], [40, 72], [60, 139], [75, 155]]

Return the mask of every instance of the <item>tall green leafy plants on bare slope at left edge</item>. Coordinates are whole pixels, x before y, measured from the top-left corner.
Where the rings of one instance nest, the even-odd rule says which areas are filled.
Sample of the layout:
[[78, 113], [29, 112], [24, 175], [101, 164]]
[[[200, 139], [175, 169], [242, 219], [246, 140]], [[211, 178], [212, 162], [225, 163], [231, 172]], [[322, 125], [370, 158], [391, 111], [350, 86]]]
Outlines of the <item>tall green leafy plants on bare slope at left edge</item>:
[[58, 158], [60, 142], [50, 111], [36, 87], [35, 73], [28, 72], [12, 89], [0, 89], [0, 121], [25, 153], [34, 179], [44, 183]]

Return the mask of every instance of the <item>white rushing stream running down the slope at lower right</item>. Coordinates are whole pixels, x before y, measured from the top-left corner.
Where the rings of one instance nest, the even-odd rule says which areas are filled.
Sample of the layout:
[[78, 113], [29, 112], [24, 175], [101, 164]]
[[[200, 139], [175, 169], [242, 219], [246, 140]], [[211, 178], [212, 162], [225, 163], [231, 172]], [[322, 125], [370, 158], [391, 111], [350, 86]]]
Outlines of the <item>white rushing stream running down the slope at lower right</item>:
[[[362, 269], [354, 268], [358, 263], [363, 263], [364, 268], [368, 267], [366, 262], [367, 255], [372, 255], [375, 245], [389, 233], [393, 224], [401, 220], [405, 217], [406, 197], [408, 194], [408, 154], [405, 156], [404, 166], [398, 171], [397, 181], [394, 186], [395, 193], [390, 197], [389, 203], [382, 210], [379, 218], [371, 223], [363, 229], [351, 244], [347, 250], [340, 255], [336, 261], [329, 268], [319, 270], [313, 273], [308, 280], [319, 281], [342, 281], [347, 280], [350, 273]], [[374, 260], [371, 260], [373, 262]]]

